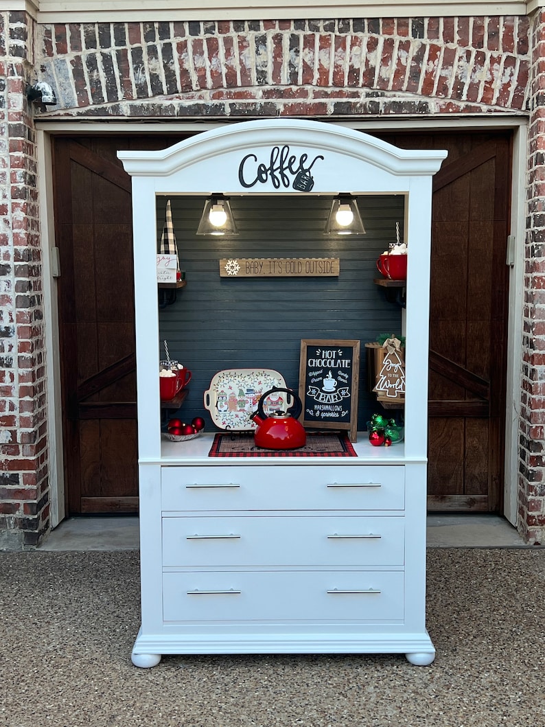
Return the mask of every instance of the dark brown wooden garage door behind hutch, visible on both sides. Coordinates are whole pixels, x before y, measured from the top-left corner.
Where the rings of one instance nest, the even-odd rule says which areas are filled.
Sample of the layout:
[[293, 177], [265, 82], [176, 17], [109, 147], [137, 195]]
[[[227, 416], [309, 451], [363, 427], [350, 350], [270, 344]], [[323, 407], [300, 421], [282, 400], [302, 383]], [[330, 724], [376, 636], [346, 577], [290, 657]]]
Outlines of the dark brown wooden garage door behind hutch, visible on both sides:
[[[434, 180], [432, 207], [429, 508], [496, 511], [504, 461], [510, 135], [380, 135], [405, 148], [449, 152]], [[137, 510], [131, 196], [116, 151], [166, 148], [180, 138], [55, 139], [70, 513]]]

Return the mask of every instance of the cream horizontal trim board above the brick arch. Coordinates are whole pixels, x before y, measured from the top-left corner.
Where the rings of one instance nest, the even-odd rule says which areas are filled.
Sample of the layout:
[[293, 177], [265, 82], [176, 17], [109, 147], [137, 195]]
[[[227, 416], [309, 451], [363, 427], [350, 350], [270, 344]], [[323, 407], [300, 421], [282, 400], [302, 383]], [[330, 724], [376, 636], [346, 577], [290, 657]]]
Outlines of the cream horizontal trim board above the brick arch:
[[123, 23], [159, 20], [273, 20], [330, 17], [451, 17], [470, 15], [530, 15], [545, 0], [193, 0], [180, 7], [173, 0], [150, 0], [135, 7], [133, 0], [2, 0], [0, 11], [25, 10], [39, 23]]

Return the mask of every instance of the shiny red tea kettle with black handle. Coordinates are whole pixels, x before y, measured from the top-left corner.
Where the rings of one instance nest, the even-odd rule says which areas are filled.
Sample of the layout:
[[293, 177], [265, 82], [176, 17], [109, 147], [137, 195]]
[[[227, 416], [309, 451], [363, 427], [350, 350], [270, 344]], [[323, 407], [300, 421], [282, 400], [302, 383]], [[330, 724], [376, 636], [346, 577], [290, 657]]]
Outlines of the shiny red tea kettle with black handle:
[[[285, 391], [293, 397], [294, 403], [288, 411], [278, 409], [278, 411], [273, 411], [273, 414], [267, 417], [265, 411], [263, 411], [263, 403], [266, 401], [267, 396], [276, 391]], [[297, 449], [297, 447], [303, 447], [307, 442], [307, 433], [304, 431], [301, 422], [297, 421], [302, 408], [301, 399], [291, 389], [280, 389], [275, 386], [266, 391], [259, 399], [257, 411], [250, 414], [250, 419], [257, 424], [254, 435], [256, 446], [265, 449]]]

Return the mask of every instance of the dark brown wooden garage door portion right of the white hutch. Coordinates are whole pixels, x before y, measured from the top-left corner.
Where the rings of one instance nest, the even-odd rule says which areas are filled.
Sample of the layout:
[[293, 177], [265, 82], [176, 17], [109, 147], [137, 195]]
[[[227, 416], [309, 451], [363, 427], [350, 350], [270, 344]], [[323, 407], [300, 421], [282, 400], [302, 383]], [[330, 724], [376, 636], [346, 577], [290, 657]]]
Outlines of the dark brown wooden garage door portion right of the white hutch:
[[405, 148], [448, 149], [433, 179], [429, 509], [498, 510], [511, 134], [381, 135]]

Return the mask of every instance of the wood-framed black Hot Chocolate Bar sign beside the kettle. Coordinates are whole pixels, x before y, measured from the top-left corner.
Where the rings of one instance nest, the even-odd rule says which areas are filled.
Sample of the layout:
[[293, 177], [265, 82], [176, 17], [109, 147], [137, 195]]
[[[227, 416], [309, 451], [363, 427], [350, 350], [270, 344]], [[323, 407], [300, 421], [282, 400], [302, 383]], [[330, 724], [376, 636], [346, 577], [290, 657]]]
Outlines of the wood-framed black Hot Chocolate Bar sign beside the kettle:
[[359, 340], [301, 341], [299, 398], [304, 427], [358, 429]]

